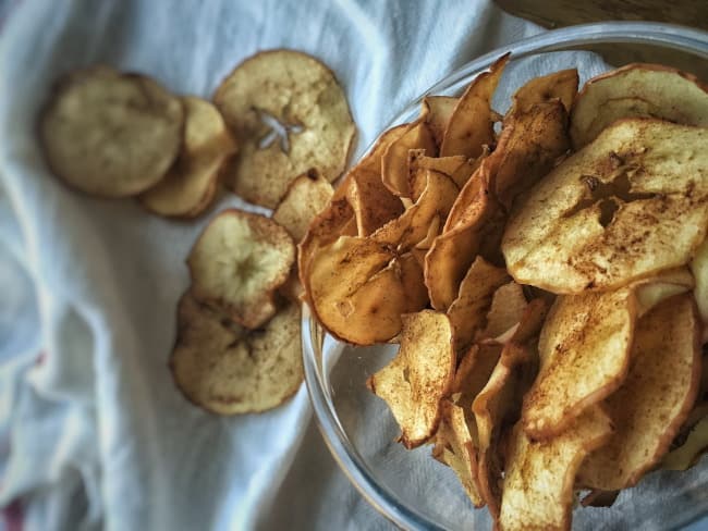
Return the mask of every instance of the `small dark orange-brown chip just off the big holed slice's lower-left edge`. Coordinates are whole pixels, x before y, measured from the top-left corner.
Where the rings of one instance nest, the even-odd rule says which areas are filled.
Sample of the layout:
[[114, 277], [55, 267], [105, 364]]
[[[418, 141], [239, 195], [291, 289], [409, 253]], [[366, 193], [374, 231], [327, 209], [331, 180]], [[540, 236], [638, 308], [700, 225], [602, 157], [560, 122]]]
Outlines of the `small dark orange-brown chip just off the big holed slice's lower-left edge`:
[[505, 269], [497, 268], [481, 257], [472, 262], [460, 283], [457, 298], [448, 308], [448, 317], [454, 331], [455, 351], [467, 348], [477, 332], [485, 328], [492, 297], [508, 281]]

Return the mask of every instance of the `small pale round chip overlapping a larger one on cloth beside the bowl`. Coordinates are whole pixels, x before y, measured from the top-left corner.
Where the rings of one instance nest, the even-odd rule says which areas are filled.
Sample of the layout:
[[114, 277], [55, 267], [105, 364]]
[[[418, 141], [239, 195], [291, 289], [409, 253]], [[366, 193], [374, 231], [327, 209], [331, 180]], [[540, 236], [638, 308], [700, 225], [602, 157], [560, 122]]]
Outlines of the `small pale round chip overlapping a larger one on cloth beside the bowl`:
[[187, 258], [192, 294], [247, 329], [276, 313], [274, 291], [285, 283], [295, 245], [274, 221], [224, 210], [204, 230]]

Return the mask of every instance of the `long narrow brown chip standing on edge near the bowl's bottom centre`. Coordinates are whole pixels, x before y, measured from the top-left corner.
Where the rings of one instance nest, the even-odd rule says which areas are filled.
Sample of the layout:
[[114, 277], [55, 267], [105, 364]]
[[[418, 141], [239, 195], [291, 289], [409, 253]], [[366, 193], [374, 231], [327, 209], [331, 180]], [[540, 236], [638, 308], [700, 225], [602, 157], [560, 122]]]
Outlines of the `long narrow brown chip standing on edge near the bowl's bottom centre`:
[[504, 423], [518, 419], [521, 400], [516, 397], [525, 393], [525, 382], [529, 380], [526, 373], [535, 370], [537, 358], [527, 346], [506, 344], [489, 381], [472, 404], [478, 437], [478, 484], [495, 518], [499, 517], [503, 482], [503, 458], [499, 448], [501, 430]]

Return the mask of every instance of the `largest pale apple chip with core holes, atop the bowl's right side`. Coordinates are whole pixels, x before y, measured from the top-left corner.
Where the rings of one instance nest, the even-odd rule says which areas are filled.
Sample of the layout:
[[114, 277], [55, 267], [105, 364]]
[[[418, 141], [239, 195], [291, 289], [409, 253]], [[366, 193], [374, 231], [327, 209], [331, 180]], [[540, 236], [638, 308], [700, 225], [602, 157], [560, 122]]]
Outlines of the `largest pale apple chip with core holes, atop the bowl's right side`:
[[707, 132], [656, 120], [605, 129], [512, 214], [501, 244], [511, 275], [573, 294], [687, 263], [708, 230]]

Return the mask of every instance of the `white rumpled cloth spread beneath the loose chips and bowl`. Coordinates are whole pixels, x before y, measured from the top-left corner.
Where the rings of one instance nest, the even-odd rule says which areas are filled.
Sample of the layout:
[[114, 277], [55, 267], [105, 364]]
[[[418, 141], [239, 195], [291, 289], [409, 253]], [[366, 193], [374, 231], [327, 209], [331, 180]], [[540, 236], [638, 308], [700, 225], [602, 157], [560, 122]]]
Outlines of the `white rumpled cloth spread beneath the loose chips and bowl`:
[[[0, 26], [0, 506], [24, 529], [383, 529], [313, 428], [304, 386], [264, 415], [188, 404], [167, 360], [193, 223], [91, 199], [47, 171], [35, 123], [52, 81], [96, 62], [210, 97], [261, 49], [327, 63], [354, 157], [466, 61], [540, 29], [490, 1], [13, 3]], [[291, 467], [291, 465], [294, 465]], [[14, 523], [13, 523], [14, 522]]]

